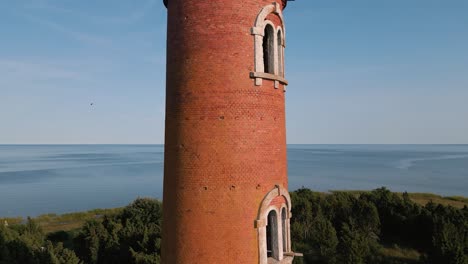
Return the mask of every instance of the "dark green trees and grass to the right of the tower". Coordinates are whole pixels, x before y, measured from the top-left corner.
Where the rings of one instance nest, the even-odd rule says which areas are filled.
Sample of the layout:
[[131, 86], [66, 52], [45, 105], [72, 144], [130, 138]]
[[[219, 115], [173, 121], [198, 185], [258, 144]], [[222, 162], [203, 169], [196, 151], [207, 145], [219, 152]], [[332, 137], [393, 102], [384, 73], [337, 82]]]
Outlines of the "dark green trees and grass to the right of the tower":
[[[414, 201], [412, 198], [416, 201]], [[434, 195], [332, 192], [291, 193], [296, 263], [468, 263], [468, 207]]]

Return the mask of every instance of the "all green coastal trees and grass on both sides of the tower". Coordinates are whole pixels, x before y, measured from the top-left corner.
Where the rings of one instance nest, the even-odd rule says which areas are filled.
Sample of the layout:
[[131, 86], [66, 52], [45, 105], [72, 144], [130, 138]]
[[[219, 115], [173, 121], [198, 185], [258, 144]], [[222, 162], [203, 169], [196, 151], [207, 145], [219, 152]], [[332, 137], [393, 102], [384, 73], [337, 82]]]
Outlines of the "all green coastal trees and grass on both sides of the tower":
[[[468, 200], [373, 191], [291, 192], [295, 263], [468, 263]], [[0, 219], [0, 264], [160, 263], [162, 203]]]

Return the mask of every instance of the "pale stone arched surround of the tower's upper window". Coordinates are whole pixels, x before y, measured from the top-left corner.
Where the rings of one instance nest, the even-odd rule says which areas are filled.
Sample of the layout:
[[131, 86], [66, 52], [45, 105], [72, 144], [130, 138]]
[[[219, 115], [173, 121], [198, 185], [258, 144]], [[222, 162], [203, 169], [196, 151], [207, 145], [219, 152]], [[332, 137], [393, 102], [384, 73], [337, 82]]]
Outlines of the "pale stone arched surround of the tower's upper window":
[[[264, 74], [265, 68], [263, 65], [263, 36], [264, 36], [264, 29], [265, 26], [269, 23], [272, 23], [269, 20], [266, 20], [266, 17], [269, 14], [276, 14], [280, 18], [282, 32], [282, 39], [283, 43], [285, 43], [286, 39], [286, 27], [283, 18], [283, 12], [281, 10], [281, 5], [277, 2], [274, 2], [270, 5], [267, 5], [262, 8], [260, 13], [257, 15], [255, 19], [254, 26], [251, 28], [251, 34], [254, 36], [254, 72], [252, 72], [251, 78], [255, 78], [255, 85], [262, 85], [262, 78], [271, 79], [275, 81], [275, 88], [279, 87], [279, 83], [283, 83], [287, 85], [287, 81], [282, 77], [278, 76], [278, 55], [277, 55], [277, 46], [275, 45], [275, 74]], [[275, 34], [277, 34], [277, 27], [273, 26], [275, 30]], [[277, 44], [277, 38], [275, 37], [275, 43]], [[284, 45], [284, 44], [283, 44]], [[284, 64], [283, 64], [284, 65]]]

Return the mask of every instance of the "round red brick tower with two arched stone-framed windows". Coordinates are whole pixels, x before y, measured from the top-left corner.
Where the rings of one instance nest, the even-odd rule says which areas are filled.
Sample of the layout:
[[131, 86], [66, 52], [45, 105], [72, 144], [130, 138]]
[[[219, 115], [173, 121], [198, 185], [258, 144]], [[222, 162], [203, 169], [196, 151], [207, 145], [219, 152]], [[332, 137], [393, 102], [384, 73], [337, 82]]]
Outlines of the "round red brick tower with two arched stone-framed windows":
[[290, 263], [286, 0], [164, 0], [168, 264]]

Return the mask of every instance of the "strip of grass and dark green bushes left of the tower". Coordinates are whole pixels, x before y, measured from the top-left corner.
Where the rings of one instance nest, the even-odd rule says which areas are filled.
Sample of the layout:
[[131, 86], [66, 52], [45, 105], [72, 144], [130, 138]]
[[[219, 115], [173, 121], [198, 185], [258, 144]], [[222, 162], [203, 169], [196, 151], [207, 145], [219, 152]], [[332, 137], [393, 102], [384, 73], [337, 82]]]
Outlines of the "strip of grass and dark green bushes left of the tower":
[[[69, 230], [57, 221], [71, 221], [62, 225]], [[161, 221], [161, 202], [142, 198], [121, 209], [28, 218], [0, 226], [0, 264], [159, 263]]]

